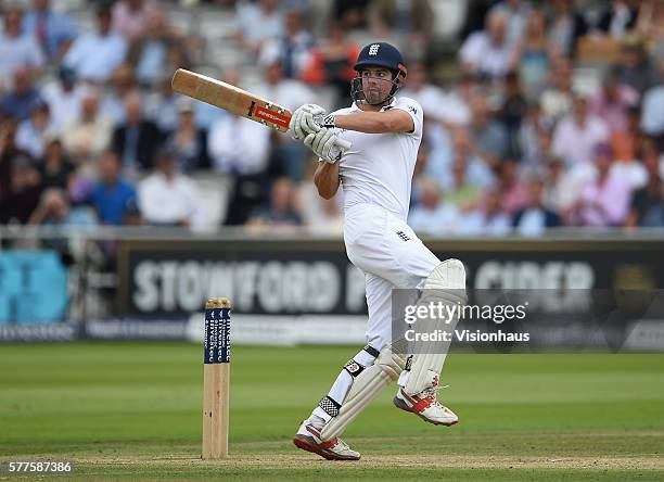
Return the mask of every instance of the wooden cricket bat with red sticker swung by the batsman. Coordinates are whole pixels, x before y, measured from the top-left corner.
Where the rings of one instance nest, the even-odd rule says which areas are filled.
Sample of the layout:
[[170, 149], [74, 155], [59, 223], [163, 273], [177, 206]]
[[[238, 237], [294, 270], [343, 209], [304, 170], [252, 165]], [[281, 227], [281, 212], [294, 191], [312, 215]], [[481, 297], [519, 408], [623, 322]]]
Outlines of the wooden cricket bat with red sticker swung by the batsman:
[[[239, 87], [184, 68], [176, 71], [171, 85], [173, 90], [183, 96], [255, 120], [280, 132], [289, 130], [293, 116], [291, 111]], [[349, 149], [350, 145], [350, 142], [340, 139], [339, 145], [332, 149], [330, 155], [337, 158], [340, 151]]]

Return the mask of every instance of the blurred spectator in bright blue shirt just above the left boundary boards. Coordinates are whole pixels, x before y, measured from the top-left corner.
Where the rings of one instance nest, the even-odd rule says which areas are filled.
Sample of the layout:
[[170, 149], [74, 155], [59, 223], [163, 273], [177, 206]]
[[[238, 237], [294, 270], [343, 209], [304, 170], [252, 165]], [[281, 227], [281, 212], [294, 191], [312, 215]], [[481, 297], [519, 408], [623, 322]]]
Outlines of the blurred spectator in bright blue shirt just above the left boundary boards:
[[120, 176], [120, 162], [112, 151], [106, 151], [100, 164], [100, 180], [92, 191], [92, 205], [101, 224], [123, 225], [129, 208], [137, 203], [133, 186]]

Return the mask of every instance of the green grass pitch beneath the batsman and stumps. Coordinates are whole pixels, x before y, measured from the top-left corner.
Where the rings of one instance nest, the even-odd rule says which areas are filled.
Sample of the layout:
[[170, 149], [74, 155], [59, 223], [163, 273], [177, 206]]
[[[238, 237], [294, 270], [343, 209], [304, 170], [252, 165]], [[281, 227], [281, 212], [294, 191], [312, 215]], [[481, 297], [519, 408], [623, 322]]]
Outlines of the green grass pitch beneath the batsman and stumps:
[[388, 389], [344, 436], [362, 459], [330, 462], [291, 437], [357, 347], [237, 346], [231, 456], [202, 461], [202, 350], [0, 345], [0, 480], [21, 478], [9, 460], [72, 460], [80, 480], [664, 480], [664, 355], [455, 354], [440, 397], [459, 424]]

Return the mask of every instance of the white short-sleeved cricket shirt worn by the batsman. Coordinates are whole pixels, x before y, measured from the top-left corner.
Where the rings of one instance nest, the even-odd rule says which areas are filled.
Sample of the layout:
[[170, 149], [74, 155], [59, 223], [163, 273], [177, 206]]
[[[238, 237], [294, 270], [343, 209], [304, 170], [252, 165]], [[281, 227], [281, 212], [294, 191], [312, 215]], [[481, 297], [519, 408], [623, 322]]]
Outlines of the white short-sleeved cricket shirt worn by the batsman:
[[[412, 132], [365, 134], [340, 129], [339, 137], [353, 143], [340, 161], [344, 210], [369, 203], [406, 220], [410, 204], [412, 174], [422, 141], [422, 106], [409, 98], [393, 99], [390, 109], [400, 109], [412, 117]], [[362, 112], [357, 104], [333, 112], [353, 115]]]

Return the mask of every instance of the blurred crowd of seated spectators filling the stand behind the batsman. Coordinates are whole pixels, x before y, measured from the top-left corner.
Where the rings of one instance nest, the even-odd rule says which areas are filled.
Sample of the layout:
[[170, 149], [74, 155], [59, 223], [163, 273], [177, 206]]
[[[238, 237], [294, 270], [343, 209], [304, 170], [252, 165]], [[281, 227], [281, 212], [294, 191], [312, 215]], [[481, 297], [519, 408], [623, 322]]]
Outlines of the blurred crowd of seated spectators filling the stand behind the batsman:
[[[214, 224], [340, 232], [343, 194], [316, 195], [308, 150], [169, 80], [213, 65], [289, 109], [336, 109], [362, 38], [403, 49], [399, 96], [424, 110], [418, 232], [664, 226], [664, 2], [458, 0], [442, 38], [435, 1], [330, 0], [321, 21], [310, 0], [98, 0], [82, 27], [49, 0], [0, 0], [0, 224], [205, 227], [200, 180], [217, 176]], [[176, 5], [226, 12], [243, 62], [176, 27]]]

